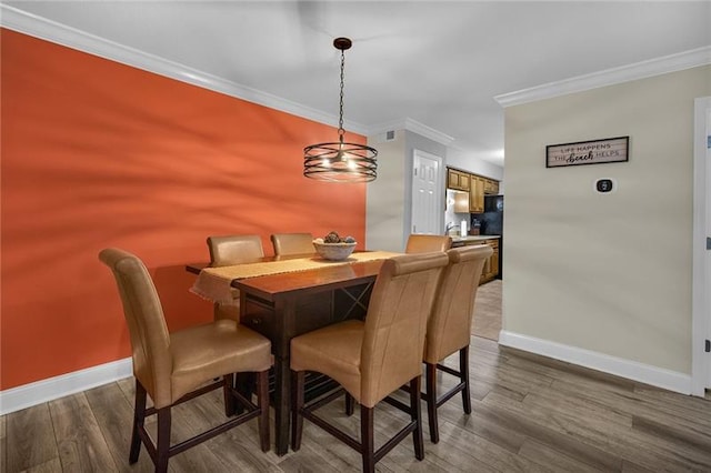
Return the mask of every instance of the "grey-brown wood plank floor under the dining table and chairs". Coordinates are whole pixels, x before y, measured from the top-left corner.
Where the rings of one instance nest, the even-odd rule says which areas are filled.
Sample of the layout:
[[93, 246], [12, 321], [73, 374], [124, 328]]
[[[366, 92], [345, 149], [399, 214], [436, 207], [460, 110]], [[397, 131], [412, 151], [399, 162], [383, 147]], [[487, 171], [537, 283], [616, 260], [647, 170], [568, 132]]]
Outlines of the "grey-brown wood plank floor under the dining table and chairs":
[[[472, 336], [473, 413], [461, 397], [440, 409], [441, 441], [425, 432], [425, 457], [408, 439], [378, 463], [380, 472], [711, 472], [711, 399], [691, 397]], [[448, 363], [454, 365], [457, 359]], [[444, 375], [443, 389], [453, 380]], [[0, 417], [2, 472], [150, 472], [143, 450], [128, 464], [133, 380], [127, 379]], [[220, 392], [176, 409], [173, 441], [222, 421]], [[323, 415], [359, 432], [358, 410]], [[424, 413], [424, 410], [423, 410]], [[424, 415], [427, 417], [427, 415]], [[427, 420], [425, 420], [427, 425]], [[375, 442], [404, 424], [375, 412]], [[154, 422], [149, 425], [154, 429]], [[299, 452], [263, 454], [256, 423], [170, 461], [172, 472], [358, 472], [359, 455], [304, 422]], [[273, 439], [273, 434], [272, 434]]]

